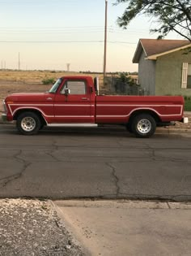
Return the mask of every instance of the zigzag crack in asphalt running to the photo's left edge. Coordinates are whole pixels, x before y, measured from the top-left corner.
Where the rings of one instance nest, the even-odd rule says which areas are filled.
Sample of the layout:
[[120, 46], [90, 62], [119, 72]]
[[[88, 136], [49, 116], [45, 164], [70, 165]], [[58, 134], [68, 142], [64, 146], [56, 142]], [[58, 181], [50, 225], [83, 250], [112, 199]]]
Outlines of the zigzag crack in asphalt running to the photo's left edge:
[[6, 176], [5, 178], [0, 179], [0, 188], [6, 187], [7, 184], [9, 184], [13, 180], [18, 180], [22, 175], [23, 172], [26, 171], [28, 166], [31, 164], [30, 162], [25, 161], [23, 158], [19, 158], [19, 155], [21, 155], [23, 150], [19, 150], [18, 153], [13, 155], [13, 158], [15, 158], [17, 161], [20, 163], [23, 163], [23, 167], [21, 168], [21, 171], [18, 173], [11, 175], [11, 176]]

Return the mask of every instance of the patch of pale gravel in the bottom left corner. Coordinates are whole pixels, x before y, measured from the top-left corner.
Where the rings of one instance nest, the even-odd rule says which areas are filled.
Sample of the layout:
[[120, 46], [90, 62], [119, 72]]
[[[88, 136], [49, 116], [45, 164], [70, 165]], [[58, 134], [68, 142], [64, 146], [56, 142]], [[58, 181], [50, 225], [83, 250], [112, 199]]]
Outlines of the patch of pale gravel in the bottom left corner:
[[49, 202], [0, 200], [0, 255], [84, 255]]

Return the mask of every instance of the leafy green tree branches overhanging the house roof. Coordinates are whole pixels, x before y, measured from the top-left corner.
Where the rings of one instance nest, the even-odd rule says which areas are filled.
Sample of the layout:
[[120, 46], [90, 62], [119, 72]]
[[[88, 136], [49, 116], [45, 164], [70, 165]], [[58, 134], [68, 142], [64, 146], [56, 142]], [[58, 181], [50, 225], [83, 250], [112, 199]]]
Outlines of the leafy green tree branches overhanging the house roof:
[[129, 22], [138, 15], [147, 15], [158, 21], [151, 32], [159, 33], [159, 39], [174, 31], [191, 41], [191, 0], [116, 0], [116, 4], [125, 3], [127, 7], [117, 23], [127, 28]]

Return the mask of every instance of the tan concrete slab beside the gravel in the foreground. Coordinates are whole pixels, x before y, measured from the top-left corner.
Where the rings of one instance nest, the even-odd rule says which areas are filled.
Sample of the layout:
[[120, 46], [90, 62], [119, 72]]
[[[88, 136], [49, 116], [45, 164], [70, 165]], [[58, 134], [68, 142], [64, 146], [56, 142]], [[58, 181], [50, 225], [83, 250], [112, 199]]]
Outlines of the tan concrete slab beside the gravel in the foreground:
[[57, 201], [54, 206], [87, 255], [190, 255], [189, 203]]

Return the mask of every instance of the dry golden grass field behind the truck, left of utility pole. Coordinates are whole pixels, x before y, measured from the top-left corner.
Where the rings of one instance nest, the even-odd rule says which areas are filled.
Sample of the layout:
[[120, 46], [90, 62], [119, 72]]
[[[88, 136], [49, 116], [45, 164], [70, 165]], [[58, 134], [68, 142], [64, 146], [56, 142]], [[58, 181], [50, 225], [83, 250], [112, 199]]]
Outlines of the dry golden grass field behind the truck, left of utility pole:
[[[50, 71], [0, 71], [0, 101], [10, 93], [45, 92], [51, 85], [43, 85], [42, 80], [57, 78], [61, 76], [91, 76], [78, 72], [50, 72]], [[100, 84], [103, 84], [103, 76], [99, 76]], [[2, 112], [2, 104], [0, 104]]]

